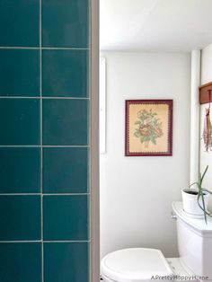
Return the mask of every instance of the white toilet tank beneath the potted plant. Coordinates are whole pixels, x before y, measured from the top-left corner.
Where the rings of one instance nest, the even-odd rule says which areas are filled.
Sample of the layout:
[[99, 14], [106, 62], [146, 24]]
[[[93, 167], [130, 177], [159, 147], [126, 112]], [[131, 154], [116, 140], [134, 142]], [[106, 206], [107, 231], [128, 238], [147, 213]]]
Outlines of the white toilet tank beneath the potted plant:
[[172, 210], [177, 218], [181, 264], [198, 279], [212, 280], [212, 218], [208, 216], [208, 225], [204, 218], [191, 218], [183, 211], [182, 202], [172, 203]]

